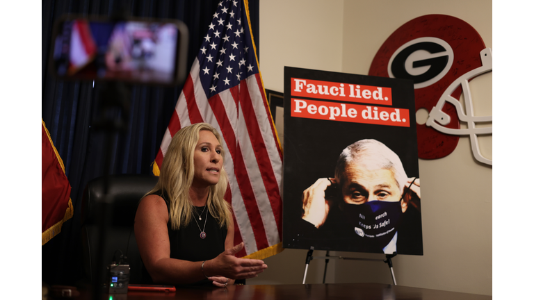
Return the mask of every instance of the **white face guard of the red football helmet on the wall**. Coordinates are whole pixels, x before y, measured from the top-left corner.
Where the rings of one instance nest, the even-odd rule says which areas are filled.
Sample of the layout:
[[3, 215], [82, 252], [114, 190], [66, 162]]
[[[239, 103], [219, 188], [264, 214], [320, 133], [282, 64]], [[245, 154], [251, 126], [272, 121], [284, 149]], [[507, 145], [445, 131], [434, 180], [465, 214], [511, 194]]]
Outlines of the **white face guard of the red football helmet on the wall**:
[[[492, 122], [492, 116], [474, 116], [473, 100], [471, 98], [471, 90], [469, 88], [469, 80], [479, 76], [480, 74], [492, 72], [492, 49], [486, 48], [480, 51], [480, 58], [482, 59], [482, 66], [463, 74], [453, 81], [453, 83], [451, 83], [451, 85], [449, 85], [444, 91], [442, 96], [439, 98], [439, 101], [437, 101], [436, 105], [430, 111], [426, 121], [426, 126], [431, 126], [432, 128], [435, 128], [435, 130], [449, 135], [469, 135], [469, 139], [471, 141], [471, 150], [473, 151], [473, 155], [476, 160], [478, 160], [480, 163], [492, 165], [492, 160], [489, 160], [480, 154], [477, 138], [477, 135], [492, 134], [492, 127], [476, 127], [476, 122]], [[462, 108], [460, 101], [451, 96], [451, 94], [460, 85], [462, 86], [462, 91], [464, 94], [465, 111]], [[458, 113], [458, 118], [460, 121], [467, 124], [467, 128], [457, 129], [445, 127], [451, 122], [451, 116], [442, 111], [446, 102], [455, 106], [456, 112]]]

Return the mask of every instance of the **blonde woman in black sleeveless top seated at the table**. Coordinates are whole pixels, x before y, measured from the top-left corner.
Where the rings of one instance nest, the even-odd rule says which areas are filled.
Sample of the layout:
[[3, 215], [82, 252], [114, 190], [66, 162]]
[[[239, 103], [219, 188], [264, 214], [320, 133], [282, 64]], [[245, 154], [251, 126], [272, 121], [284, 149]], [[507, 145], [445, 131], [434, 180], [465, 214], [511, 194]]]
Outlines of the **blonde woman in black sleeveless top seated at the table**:
[[219, 133], [206, 123], [172, 138], [156, 187], [141, 199], [134, 231], [144, 283], [232, 285], [267, 265], [236, 258], [234, 223], [223, 199], [228, 178]]

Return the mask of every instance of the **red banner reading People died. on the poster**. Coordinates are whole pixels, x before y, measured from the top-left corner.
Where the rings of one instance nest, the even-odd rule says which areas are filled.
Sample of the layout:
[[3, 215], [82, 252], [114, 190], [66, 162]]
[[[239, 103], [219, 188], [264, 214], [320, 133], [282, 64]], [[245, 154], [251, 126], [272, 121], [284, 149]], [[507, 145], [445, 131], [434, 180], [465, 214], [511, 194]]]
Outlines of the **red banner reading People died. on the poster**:
[[365, 106], [293, 98], [291, 98], [291, 117], [410, 127], [410, 112], [405, 108]]

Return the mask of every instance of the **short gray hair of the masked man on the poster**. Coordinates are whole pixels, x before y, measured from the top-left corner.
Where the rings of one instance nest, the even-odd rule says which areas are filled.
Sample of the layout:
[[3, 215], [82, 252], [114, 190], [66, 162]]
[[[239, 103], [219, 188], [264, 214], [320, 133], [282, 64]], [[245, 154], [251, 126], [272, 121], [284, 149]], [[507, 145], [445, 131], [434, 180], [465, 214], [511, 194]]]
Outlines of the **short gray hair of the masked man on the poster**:
[[393, 172], [399, 190], [408, 180], [401, 159], [394, 151], [378, 140], [359, 140], [348, 145], [337, 160], [335, 176], [341, 186], [345, 181], [345, 168], [353, 163], [362, 164], [367, 169], [389, 169]]

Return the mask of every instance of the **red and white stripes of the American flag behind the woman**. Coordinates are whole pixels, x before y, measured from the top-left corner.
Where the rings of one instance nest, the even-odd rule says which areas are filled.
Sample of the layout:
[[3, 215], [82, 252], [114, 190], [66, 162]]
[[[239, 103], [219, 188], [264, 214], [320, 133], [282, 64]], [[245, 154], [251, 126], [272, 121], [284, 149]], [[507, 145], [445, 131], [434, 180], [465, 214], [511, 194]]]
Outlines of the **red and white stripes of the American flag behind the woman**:
[[207, 99], [199, 66], [195, 59], [154, 163], [159, 170], [170, 140], [180, 128], [198, 122], [214, 126], [227, 150], [229, 191], [225, 199], [234, 209], [234, 243], [245, 242], [237, 256], [247, 256], [281, 242], [282, 151], [260, 75], [249, 76]]

